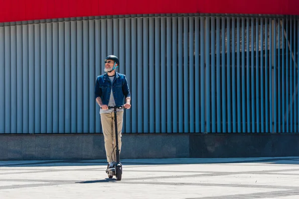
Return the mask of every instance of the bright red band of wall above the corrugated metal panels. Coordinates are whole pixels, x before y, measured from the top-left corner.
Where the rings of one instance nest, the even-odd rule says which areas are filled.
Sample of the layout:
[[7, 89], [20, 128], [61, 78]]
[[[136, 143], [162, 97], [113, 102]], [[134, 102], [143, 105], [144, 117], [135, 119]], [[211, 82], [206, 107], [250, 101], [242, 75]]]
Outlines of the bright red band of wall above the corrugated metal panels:
[[0, 0], [0, 22], [143, 13], [299, 15], [299, 0]]

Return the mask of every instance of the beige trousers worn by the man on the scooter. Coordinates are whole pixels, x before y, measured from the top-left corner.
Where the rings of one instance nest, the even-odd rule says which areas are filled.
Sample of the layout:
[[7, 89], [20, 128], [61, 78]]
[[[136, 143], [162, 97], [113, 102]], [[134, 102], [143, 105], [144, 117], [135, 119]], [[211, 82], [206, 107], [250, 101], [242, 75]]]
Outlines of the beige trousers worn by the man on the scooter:
[[[124, 111], [117, 112], [118, 146], [121, 153], [122, 128]], [[108, 162], [116, 162], [115, 123], [114, 112], [101, 113], [101, 123], [104, 134], [105, 150]]]

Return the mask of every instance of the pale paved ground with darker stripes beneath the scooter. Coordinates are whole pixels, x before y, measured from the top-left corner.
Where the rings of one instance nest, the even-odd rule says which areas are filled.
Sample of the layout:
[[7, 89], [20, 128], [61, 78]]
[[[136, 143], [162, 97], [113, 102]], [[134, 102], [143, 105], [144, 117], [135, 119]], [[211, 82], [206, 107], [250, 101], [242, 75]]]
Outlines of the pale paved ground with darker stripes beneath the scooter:
[[298, 199], [299, 157], [0, 161], [0, 199]]

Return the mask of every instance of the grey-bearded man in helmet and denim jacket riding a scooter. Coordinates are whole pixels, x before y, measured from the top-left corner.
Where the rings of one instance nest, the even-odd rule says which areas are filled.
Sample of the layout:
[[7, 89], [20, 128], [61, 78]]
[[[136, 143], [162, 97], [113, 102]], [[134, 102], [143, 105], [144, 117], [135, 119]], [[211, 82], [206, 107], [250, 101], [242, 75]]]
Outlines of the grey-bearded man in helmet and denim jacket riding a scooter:
[[[116, 162], [116, 144], [115, 123], [113, 109], [108, 106], [121, 106], [130, 108], [131, 93], [125, 75], [117, 73], [115, 70], [119, 67], [119, 59], [114, 55], [105, 58], [105, 74], [98, 76], [95, 86], [95, 98], [100, 109], [101, 123], [105, 140], [105, 150], [108, 162], [108, 170], [115, 170]], [[126, 103], [124, 104], [124, 99]], [[123, 128], [123, 109], [117, 110], [117, 129], [119, 150], [122, 147], [122, 128]]]

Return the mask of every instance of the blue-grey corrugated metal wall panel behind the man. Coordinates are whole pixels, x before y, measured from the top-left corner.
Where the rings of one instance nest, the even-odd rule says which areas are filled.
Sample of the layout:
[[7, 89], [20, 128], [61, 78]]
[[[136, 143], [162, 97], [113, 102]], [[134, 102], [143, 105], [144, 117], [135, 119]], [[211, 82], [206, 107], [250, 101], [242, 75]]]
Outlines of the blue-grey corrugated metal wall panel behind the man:
[[[281, 16], [280, 16], [281, 17]], [[119, 56], [126, 133], [297, 132], [297, 17], [142, 16], [0, 26], [0, 133], [99, 133]]]

